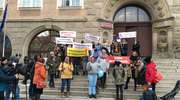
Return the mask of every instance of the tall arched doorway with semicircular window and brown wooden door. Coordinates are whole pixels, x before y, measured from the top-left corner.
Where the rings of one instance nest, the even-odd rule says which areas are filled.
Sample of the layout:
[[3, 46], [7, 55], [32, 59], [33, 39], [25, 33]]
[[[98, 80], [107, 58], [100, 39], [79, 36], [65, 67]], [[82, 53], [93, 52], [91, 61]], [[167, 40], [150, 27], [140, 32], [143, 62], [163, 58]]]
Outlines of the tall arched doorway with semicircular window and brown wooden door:
[[127, 39], [128, 55], [135, 40], [140, 42], [141, 56], [152, 55], [152, 23], [149, 12], [141, 6], [126, 5], [118, 9], [113, 18], [114, 40], [119, 32], [136, 31], [137, 37]]

